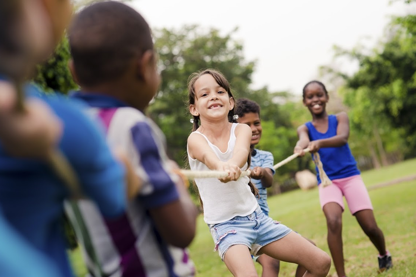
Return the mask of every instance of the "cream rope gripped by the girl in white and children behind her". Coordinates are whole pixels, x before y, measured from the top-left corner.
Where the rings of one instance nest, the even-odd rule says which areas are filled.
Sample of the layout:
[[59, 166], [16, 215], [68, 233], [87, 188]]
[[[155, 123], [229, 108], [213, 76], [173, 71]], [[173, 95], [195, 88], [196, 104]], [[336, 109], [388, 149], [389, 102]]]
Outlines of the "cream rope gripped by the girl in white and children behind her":
[[[303, 149], [304, 152], [309, 152], [309, 148], [305, 148]], [[326, 175], [325, 171], [324, 171], [324, 167], [322, 165], [320, 156], [318, 154], [318, 152], [316, 153], [312, 153], [313, 155], [313, 160], [314, 163], [316, 164], [316, 166], [318, 167], [318, 172], [319, 172], [319, 176], [321, 177], [321, 182], [323, 184], [324, 187], [332, 184], [331, 180], [328, 178], [328, 176]], [[277, 164], [275, 164], [273, 166], [273, 168], [276, 170], [277, 168], [287, 164], [288, 162], [290, 162], [291, 160], [295, 159], [296, 157], [299, 156], [299, 153], [294, 153], [293, 155], [290, 155], [289, 157], [285, 158], [284, 160], [278, 162]], [[195, 179], [195, 178], [222, 178], [222, 177], [227, 177], [228, 173], [225, 171], [215, 171], [215, 170], [207, 170], [207, 171], [196, 171], [196, 170], [186, 170], [186, 169], [181, 169], [179, 171], [181, 173], [181, 175], [189, 178], [189, 179]], [[250, 176], [251, 174], [251, 170], [246, 170], [241, 172], [240, 176]]]

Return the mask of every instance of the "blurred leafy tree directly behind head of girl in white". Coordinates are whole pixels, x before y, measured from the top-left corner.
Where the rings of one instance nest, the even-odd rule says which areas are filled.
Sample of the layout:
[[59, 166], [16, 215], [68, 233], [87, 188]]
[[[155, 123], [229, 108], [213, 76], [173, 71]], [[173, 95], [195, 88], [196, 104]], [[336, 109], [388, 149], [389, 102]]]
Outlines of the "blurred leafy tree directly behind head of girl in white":
[[232, 38], [234, 32], [221, 35], [217, 29], [196, 25], [154, 31], [162, 83], [149, 115], [162, 128], [169, 154], [180, 165], [192, 127], [185, 104], [188, 77], [205, 68], [218, 69], [230, 81], [235, 96], [249, 94], [254, 61], [244, 60], [243, 46]]

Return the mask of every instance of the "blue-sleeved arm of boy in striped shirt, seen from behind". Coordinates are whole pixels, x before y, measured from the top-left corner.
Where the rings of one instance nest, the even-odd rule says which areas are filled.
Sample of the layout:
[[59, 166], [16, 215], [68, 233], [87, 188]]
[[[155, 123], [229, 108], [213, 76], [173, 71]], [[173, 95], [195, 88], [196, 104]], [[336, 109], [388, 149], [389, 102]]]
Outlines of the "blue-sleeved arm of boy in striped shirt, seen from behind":
[[[160, 155], [152, 130], [145, 122], [132, 129], [134, 147], [140, 157], [140, 167], [147, 175], [139, 201], [149, 210], [156, 229], [164, 241], [176, 247], [186, 247], [195, 236], [197, 210], [182, 178], [172, 174], [171, 164]], [[148, 186], [148, 187], [146, 187]]]

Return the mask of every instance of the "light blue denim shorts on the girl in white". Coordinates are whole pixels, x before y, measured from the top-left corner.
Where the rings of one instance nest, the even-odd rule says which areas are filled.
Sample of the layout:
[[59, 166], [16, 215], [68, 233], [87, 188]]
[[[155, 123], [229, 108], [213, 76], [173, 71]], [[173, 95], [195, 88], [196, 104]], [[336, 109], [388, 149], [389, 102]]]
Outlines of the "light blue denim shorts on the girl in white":
[[214, 251], [218, 250], [221, 260], [224, 260], [225, 252], [236, 244], [246, 245], [252, 255], [259, 255], [260, 248], [292, 231], [264, 215], [259, 206], [248, 216], [236, 216], [222, 223], [208, 224], [208, 227], [215, 243]]

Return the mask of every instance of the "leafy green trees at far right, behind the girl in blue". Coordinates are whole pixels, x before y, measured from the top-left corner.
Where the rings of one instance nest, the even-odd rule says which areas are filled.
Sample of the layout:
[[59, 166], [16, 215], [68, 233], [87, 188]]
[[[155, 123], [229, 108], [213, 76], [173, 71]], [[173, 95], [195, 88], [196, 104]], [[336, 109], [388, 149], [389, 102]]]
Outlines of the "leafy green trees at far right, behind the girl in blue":
[[382, 160], [416, 155], [416, 16], [394, 18], [386, 37], [373, 50], [335, 47], [336, 57], [358, 62], [352, 76], [326, 68], [345, 80], [340, 91], [349, 107], [353, 153], [373, 161], [377, 153]]

